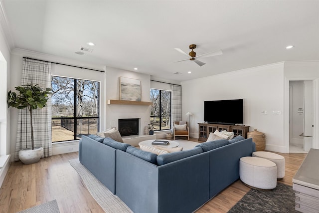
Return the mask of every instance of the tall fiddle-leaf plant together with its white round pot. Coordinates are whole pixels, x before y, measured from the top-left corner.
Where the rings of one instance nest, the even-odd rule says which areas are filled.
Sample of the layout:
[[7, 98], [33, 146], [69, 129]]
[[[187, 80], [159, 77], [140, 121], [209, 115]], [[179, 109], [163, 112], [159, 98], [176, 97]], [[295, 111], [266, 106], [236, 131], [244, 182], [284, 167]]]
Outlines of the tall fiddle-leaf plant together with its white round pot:
[[48, 94], [51, 94], [51, 88], [46, 88], [44, 91], [40, 87], [38, 87], [38, 84], [27, 84], [17, 86], [15, 87], [15, 89], [19, 91], [19, 94], [11, 92], [11, 90], [8, 92], [6, 101], [8, 104], [8, 108], [27, 108], [30, 114], [31, 128], [31, 148], [20, 150], [19, 159], [24, 164], [33, 164], [40, 160], [43, 154], [43, 148], [34, 147], [32, 112], [34, 109], [42, 109], [47, 105]]

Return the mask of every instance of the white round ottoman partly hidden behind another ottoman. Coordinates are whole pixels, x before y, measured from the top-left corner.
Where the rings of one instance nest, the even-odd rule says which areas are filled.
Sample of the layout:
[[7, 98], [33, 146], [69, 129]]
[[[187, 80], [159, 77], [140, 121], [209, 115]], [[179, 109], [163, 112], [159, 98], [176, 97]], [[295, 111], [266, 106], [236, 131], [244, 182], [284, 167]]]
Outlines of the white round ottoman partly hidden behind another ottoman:
[[265, 158], [274, 162], [277, 166], [277, 179], [281, 180], [285, 177], [285, 158], [272, 152], [253, 152], [253, 157]]

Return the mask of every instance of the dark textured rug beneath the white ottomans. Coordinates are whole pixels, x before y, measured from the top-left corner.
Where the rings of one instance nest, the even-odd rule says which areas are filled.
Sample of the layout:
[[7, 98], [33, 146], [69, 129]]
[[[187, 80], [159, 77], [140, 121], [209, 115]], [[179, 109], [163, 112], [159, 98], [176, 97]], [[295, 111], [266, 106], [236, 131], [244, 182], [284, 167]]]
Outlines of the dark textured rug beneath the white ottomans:
[[281, 183], [272, 191], [251, 189], [228, 213], [298, 213], [295, 191]]

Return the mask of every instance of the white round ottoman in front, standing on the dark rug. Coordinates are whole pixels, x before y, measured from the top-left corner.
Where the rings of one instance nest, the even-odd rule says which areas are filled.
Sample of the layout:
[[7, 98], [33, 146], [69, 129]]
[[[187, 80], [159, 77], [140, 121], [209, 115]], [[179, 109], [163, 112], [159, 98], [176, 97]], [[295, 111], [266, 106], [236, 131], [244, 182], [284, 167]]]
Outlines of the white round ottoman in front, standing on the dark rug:
[[242, 157], [239, 161], [239, 177], [251, 188], [264, 190], [277, 186], [277, 166], [274, 162], [258, 157]]

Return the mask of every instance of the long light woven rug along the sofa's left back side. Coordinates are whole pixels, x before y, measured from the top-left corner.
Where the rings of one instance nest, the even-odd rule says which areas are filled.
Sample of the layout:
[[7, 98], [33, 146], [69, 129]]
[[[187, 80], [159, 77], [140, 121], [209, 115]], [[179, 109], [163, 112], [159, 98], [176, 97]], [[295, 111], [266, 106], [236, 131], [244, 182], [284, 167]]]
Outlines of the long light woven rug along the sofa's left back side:
[[133, 213], [116, 195], [113, 195], [92, 173], [87, 170], [79, 159], [69, 160], [70, 165], [77, 171], [85, 187], [106, 213]]

